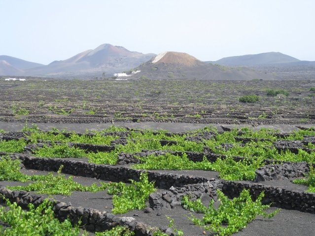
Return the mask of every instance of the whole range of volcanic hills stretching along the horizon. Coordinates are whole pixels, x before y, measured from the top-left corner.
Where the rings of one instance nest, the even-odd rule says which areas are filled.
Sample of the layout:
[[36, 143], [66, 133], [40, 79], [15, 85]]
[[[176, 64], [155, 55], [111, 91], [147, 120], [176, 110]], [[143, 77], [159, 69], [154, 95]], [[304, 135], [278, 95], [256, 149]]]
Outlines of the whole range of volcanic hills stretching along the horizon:
[[[216, 78], [219, 80], [249, 79], [250, 77], [257, 79], [258, 74], [253, 73], [253, 70], [261, 71], [267, 75], [279, 72], [283, 75], [283, 79], [286, 76], [285, 71], [295, 73], [294, 78], [298, 79], [310, 78], [313, 71], [315, 71], [315, 62], [300, 61], [280, 52], [233, 56], [215, 62], [202, 62], [183, 52], [167, 51], [158, 55], [153, 53], [143, 54], [130, 51], [123, 46], [114, 46], [108, 43], [101, 44], [95, 49], [80, 52], [65, 60], [53, 61], [48, 65], [32, 63], [5, 55], [0, 56], [0, 61], [0, 75], [56, 78], [86, 78], [100, 77], [101, 75], [109, 77], [113, 73], [131, 71], [133, 68], [137, 68], [136, 70], [142, 69], [143, 71], [140, 74], [150, 78], [155, 71], [154, 73], [159, 73], [156, 74], [158, 78], [190, 77]], [[196, 69], [197, 67], [198, 69]], [[192, 71], [190, 71], [191, 68]], [[222, 73], [219, 73], [220, 71]], [[163, 75], [163, 73], [165, 74]], [[179, 74], [181, 76], [178, 76]], [[259, 74], [258, 77], [274, 79], [268, 76]]]

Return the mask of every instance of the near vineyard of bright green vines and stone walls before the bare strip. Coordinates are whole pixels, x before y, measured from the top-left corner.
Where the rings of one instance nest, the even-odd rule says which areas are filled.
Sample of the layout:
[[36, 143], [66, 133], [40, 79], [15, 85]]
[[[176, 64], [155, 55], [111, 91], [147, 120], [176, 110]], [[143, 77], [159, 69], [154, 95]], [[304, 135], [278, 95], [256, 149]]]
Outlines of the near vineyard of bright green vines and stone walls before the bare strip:
[[[0, 138], [3, 201], [46, 207], [76, 235], [115, 226], [122, 235], [231, 235], [257, 215], [315, 213], [314, 128], [75, 133], [33, 125]], [[156, 215], [164, 219], [151, 225]]]

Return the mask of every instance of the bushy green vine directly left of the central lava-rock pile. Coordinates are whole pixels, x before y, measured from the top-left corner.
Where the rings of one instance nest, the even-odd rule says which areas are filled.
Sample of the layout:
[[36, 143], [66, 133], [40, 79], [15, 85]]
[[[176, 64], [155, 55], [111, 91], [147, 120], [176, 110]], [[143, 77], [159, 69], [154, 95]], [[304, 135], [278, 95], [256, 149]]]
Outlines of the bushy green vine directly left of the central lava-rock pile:
[[154, 182], [149, 182], [147, 173], [140, 174], [140, 181], [130, 180], [130, 185], [115, 184], [108, 194], [113, 193], [113, 213], [126, 213], [134, 209], [145, 208], [150, 193], [155, 191]]

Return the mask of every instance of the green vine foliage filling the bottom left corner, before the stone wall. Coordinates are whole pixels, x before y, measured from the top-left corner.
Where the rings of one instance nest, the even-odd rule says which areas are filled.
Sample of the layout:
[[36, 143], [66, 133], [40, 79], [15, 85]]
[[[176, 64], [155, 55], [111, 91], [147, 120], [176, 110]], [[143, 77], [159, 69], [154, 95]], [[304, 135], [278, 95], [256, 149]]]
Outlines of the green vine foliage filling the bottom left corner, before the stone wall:
[[[78, 236], [79, 227], [72, 228], [69, 219], [60, 222], [55, 218], [51, 202], [45, 199], [35, 208], [29, 204], [29, 211], [24, 211], [16, 202], [6, 200], [9, 209], [0, 208], [0, 221], [9, 225], [0, 227], [1, 236]], [[81, 222], [79, 222], [80, 224]], [[87, 234], [84, 233], [86, 236]]]

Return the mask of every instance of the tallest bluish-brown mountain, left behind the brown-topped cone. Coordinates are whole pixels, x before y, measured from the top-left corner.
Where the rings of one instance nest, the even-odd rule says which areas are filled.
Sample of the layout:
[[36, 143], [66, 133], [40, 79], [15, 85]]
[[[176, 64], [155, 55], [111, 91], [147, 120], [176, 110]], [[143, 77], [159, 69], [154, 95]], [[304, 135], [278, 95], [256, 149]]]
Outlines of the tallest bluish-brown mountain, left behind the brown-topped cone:
[[117, 70], [129, 70], [154, 56], [155, 54], [132, 52], [121, 46], [102, 44], [94, 50], [81, 52], [67, 60], [54, 61], [47, 66], [32, 68], [27, 73], [51, 76], [67, 73], [100, 76], [103, 72], [111, 74]]

